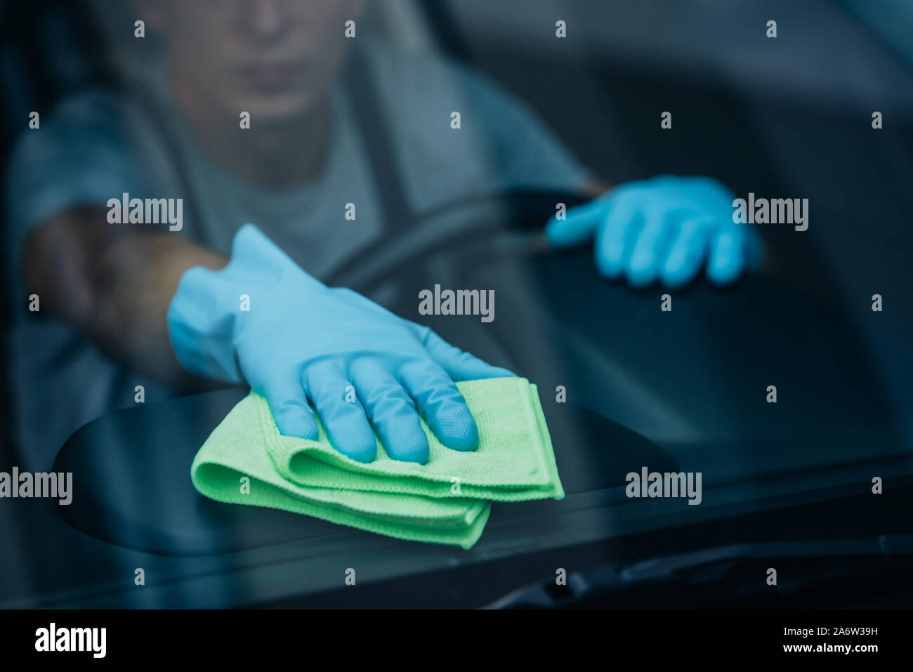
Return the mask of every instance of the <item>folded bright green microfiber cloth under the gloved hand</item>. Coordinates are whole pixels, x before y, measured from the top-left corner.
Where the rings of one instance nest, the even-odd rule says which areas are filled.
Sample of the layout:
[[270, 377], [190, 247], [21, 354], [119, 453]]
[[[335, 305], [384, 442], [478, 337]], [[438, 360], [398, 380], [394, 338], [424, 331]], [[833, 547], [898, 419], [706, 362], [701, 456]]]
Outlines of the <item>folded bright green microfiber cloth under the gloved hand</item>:
[[469, 548], [491, 501], [561, 499], [564, 491], [535, 385], [525, 378], [456, 384], [478, 427], [475, 451], [446, 448], [421, 420], [426, 464], [392, 459], [379, 440], [377, 458], [357, 462], [331, 446], [319, 418], [317, 441], [280, 435], [266, 400], [251, 392], [206, 439], [191, 478], [218, 501]]

